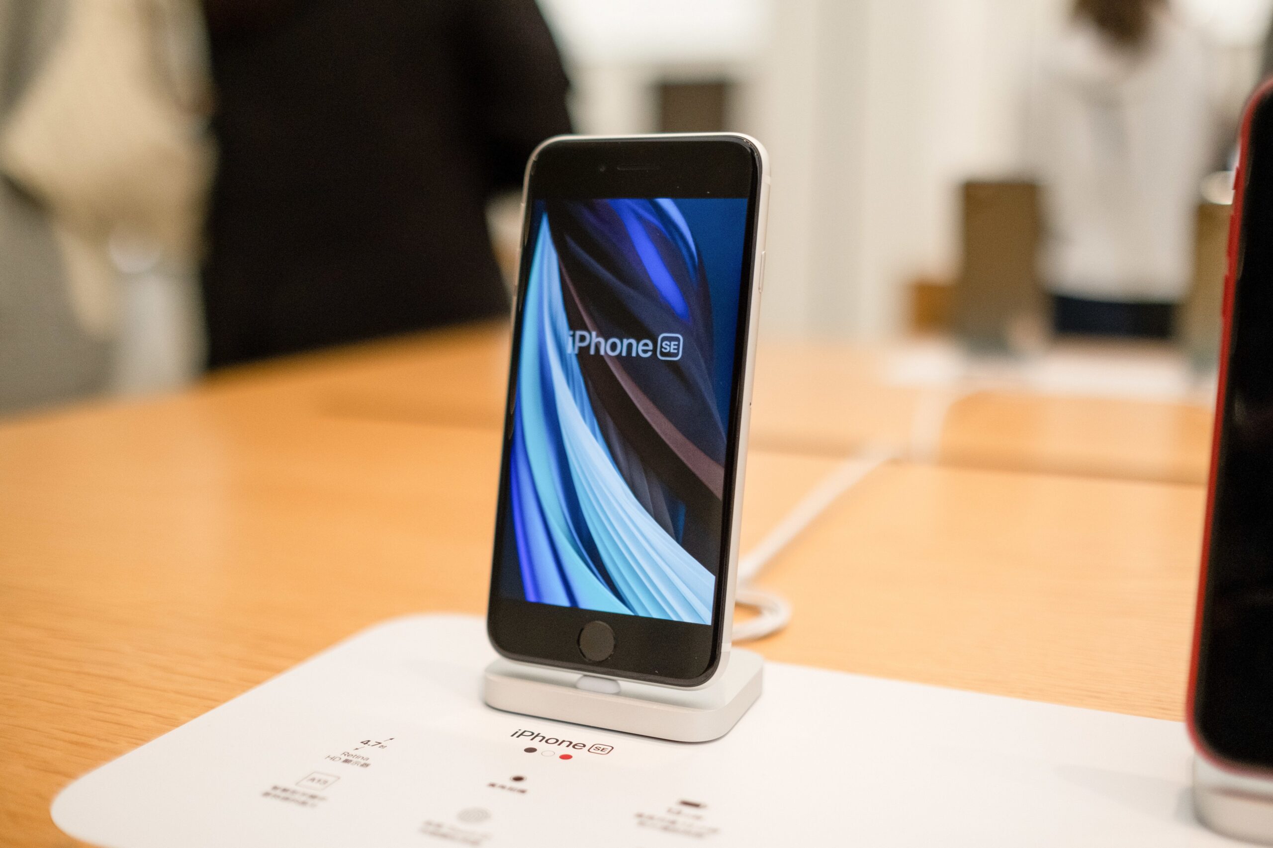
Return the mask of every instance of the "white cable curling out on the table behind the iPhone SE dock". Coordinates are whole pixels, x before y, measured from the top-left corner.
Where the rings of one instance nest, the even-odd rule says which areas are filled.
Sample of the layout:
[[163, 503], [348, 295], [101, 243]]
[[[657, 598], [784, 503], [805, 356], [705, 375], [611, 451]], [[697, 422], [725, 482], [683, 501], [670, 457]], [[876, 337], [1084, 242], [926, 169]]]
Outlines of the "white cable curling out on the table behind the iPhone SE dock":
[[757, 614], [747, 621], [735, 623], [731, 637], [733, 642], [760, 639], [787, 626], [792, 618], [791, 604], [773, 592], [751, 587], [749, 583], [774, 556], [826, 512], [840, 495], [891, 458], [894, 458], [891, 452], [873, 449], [835, 466], [783, 516], [783, 519], [760, 540], [759, 545], [738, 562], [738, 588], [735, 592], [735, 604], [751, 607]]

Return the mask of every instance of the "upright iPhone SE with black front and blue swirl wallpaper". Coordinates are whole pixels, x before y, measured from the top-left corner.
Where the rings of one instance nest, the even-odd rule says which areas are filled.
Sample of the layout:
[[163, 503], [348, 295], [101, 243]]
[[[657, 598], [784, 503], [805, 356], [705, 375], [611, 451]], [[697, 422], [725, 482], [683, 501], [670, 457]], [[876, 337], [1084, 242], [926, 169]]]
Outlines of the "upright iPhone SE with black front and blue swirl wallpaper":
[[694, 688], [733, 619], [765, 152], [559, 138], [527, 166], [488, 632]]

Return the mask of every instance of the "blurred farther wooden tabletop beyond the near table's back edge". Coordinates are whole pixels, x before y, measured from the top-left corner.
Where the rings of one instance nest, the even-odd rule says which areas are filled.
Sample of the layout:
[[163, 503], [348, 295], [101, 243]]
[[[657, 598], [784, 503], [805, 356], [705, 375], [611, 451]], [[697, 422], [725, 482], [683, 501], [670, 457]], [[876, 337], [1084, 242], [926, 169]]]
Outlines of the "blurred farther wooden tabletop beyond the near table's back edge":
[[[320, 362], [321, 368], [302, 358], [242, 369], [222, 383], [248, 395], [288, 395], [325, 415], [500, 427], [508, 377], [503, 325], [367, 345], [325, 354]], [[887, 354], [880, 348], [764, 344], [751, 443], [787, 453], [848, 456], [883, 446], [905, 455], [925, 438], [917, 416], [936, 414], [932, 458], [939, 462], [1206, 481], [1212, 418], [1204, 406], [1008, 388], [962, 395], [959, 385], [890, 385], [886, 371]]]

